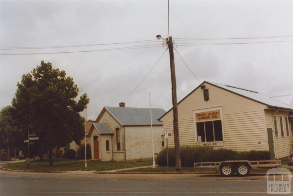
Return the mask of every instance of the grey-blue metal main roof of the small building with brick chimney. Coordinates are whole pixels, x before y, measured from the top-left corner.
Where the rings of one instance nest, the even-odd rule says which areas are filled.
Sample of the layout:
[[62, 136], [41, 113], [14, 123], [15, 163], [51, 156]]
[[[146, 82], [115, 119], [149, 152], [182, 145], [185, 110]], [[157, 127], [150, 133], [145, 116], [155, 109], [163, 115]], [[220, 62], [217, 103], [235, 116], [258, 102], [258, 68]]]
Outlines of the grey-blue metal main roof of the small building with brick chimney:
[[132, 107], [105, 107], [106, 110], [121, 125], [151, 125], [151, 117], [153, 125], [163, 125], [157, 119], [166, 113], [164, 109], [152, 108], [151, 117], [149, 108], [132, 108]]

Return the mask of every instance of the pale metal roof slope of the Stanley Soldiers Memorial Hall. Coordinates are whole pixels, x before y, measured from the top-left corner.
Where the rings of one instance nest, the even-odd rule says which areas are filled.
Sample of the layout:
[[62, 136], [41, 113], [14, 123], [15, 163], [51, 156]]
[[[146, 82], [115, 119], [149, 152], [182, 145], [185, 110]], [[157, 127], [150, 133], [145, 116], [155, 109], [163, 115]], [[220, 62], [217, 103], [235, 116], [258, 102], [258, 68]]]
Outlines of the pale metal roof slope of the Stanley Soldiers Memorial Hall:
[[275, 98], [271, 95], [261, 94], [258, 92], [254, 92], [254, 91], [250, 91], [250, 90], [246, 90], [246, 89], [242, 89], [242, 88], [238, 88], [238, 87], [233, 87], [230, 85], [222, 85], [222, 84], [217, 84], [214, 82], [207, 82], [207, 83], [210, 83], [212, 85], [215, 85], [220, 88], [226, 89], [228, 91], [234, 92], [236, 94], [242, 95], [244, 97], [253, 99], [257, 102], [261, 102], [261, 103], [263, 103], [267, 106], [270, 106], [270, 107], [285, 108], [285, 109], [292, 109], [293, 110], [293, 106], [290, 106], [289, 104], [280, 102], [279, 100], [277, 100], [277, 98]]

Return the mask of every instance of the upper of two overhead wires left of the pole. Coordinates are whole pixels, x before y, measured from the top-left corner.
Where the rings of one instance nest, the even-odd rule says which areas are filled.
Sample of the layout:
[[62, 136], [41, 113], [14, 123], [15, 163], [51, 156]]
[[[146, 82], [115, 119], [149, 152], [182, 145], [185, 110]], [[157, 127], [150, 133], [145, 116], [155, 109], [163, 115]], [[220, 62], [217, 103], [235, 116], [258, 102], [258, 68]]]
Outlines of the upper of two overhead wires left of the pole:
[[115, 44], [129, 44], [129, 43], [149, 43], [158, 42], [158, 40], [142, 40], [132, 42], [120, 42], [120, 43], [105, 43], [105, 44], [84, 44], [84, 45], [61, 45], [61, 46], [38, 46], [38, 47], [4, 47], [0, 50], [24, 50], [24, 49], [46, 49], [46, 48], [71, 48], [71, 47], [84, 47], [84, 46], [98, 46], [98, 45], [115, 45]]

